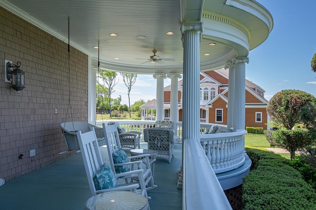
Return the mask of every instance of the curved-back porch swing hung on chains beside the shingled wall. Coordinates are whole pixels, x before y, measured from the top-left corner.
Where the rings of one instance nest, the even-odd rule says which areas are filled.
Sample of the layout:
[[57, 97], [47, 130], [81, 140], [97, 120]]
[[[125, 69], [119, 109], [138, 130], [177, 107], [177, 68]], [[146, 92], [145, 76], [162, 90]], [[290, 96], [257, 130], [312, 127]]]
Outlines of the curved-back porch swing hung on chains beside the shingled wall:
[[60, 128], [64, 135], [68, 150], [80, 150], [76, 131], [81, 131], [81, 133], [85, 133], [90, 131], [91, 127], [93, 127], [95, 130], [99, 146], [105, 145], [105, 137], [102, 127], [98, 127], [82, 121], [61, 123]]

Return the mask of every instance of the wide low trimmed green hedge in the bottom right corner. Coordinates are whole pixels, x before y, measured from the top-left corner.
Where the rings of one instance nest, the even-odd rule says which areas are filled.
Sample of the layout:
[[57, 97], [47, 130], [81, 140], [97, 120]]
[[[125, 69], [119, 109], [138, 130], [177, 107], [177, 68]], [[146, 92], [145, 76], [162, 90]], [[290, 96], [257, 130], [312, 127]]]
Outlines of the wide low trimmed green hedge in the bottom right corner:
[[316, 210], [316, 193], [288, 160], [245, 148], [252, 170], [243, 178], [243, 210]]

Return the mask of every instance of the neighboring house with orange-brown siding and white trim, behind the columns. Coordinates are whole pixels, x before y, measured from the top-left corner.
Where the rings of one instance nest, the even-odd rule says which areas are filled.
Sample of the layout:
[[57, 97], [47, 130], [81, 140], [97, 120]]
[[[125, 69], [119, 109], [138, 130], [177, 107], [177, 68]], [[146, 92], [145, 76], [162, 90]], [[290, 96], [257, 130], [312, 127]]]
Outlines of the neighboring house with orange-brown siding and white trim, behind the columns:
[[[228, 69], [218, 69], [200, 73], [200, 121], [207, 123], [227, 124], [228, 106]], [[170, 118], [171, 86], [163, 90], [164, 119]], [[245, 81], [245, 125], [246, 127], [263, 127], [268, 129], [267, 105], [265, 90], [251, 81]], [[182, 80], [178, 82], [179, 121], [182, 121]], [[151, 119], [152, 110], [156, 108], [156, 99], [144, 104], [142, 119]]]

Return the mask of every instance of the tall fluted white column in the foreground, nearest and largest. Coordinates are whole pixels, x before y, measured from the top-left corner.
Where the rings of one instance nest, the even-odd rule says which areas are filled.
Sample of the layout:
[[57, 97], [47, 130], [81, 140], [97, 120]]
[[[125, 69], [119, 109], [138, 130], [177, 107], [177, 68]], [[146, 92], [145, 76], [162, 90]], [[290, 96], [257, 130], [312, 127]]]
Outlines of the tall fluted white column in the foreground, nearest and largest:
[[199, 139], [199, 45], [201, 22], [183, 23], [183, 112], [182, 139]]

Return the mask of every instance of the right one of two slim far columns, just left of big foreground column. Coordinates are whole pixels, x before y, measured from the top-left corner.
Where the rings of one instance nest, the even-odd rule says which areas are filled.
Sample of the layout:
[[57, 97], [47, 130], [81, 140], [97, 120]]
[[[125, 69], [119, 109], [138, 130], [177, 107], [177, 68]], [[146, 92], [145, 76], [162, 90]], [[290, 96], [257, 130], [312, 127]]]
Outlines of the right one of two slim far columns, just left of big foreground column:
[[[178, 118], [178, 78], [181, 78], [179, 73], [171, 73], [167, 75], [171, 79], [170, 92], [170, 121], [177, 122]], [[175, 129], [175, 128], [172, 128]]]

